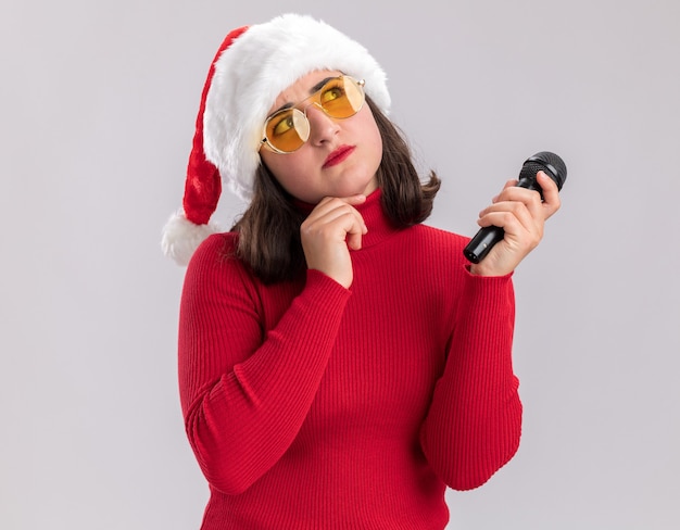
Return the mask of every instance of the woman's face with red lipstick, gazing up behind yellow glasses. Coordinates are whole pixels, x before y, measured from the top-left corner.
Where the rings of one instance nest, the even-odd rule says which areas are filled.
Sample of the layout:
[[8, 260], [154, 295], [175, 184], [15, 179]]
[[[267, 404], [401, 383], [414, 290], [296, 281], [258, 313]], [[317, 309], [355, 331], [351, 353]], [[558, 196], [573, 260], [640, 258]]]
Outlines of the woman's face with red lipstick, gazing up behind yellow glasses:
[[[276, 99], [269, 115], [297, 104], [337, 71], [317, 71], [298, 79]], [[310, 138], [297, 151], [280, 154], [263, 144], [260, 156], [278, 182], [297, 199], [316, 204], [325, 197], [368, 194], [378, 187], [376, 172], [382, 159], [382, 139], [366, 103], [355, 115], [338, 119], [318, 106], [306, 109]]]

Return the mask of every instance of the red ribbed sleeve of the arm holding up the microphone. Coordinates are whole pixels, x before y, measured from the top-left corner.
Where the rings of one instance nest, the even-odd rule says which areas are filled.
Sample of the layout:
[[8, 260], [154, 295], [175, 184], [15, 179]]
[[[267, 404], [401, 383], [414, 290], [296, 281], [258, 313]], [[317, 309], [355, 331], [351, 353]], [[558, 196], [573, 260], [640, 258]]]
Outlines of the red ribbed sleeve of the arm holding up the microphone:
[[480, 277], [466, 272], [446, 364], [420, 431], [428, 462], [455, 490], [483, 484], [519, 445], [514, 321], [512, 275]]

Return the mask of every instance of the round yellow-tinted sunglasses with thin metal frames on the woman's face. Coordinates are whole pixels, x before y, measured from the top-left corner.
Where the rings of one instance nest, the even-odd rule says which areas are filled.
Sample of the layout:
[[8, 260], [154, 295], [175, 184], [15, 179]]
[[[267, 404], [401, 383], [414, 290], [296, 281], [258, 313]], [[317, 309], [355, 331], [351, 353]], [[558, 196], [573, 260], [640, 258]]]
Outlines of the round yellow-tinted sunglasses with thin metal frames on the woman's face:
[[[362, 84], [351, 77], [340, 76], [326, 83], [311, 99], [314, 102], [310, 104], [320, 106], [327, 115], [344, 118], [353, 116], [362, 109], [364, 89]], [[310, 122], [303, 111], [285, 109], [267, 119], [264, 137], [279, 153], [292, 153], [310, 138]]]

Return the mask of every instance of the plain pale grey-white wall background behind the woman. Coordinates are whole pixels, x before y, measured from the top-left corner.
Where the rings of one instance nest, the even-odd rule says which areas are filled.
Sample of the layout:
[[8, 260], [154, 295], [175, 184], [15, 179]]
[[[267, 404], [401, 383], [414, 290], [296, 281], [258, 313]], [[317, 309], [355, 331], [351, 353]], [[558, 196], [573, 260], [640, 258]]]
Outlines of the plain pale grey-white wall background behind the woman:
[[160, 232], [217, 47], [284, 11], [388, 72], [430, 224], [471, 236], [526, 157], [568, 166], [515, 276], [521, 446], [449, 528], [680, 528], [677, 0], [3, 0], [0, 527], [198, 529]]

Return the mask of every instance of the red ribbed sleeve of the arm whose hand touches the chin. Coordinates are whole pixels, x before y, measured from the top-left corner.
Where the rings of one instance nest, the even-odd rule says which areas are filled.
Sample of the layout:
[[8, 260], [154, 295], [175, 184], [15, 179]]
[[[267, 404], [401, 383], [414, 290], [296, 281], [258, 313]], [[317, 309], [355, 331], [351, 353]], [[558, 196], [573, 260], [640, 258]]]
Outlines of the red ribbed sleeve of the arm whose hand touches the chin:
[[[216, 238], [216, 237], [214, 237]], [[263, 330], [242, 264], [199, 248], [179, 318], [179, 390], [189, 443], [212, 487], [245, 491], [287, 451], [318, 389], [350, 292], [307, 272]]]

